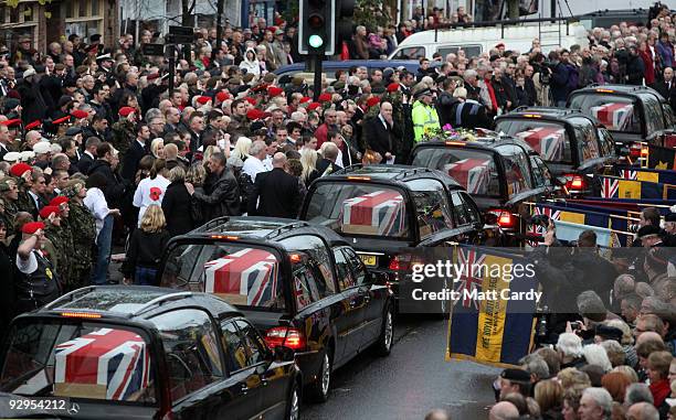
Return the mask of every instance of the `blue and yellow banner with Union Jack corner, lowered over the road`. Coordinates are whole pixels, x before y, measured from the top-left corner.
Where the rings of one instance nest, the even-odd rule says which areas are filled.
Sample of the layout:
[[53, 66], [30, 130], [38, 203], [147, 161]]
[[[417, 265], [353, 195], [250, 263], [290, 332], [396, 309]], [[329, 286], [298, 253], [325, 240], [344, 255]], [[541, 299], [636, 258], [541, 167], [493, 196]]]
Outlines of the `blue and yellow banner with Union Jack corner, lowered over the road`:
[[517, 270], [528, 262], [495, 248], [460, 246], [453, 260], [466, 269], [454, 287], [458, 298], [448, 322], [446, 360], [516, 365], [531, 349], [540, 297], [535, 294], [539, 293], [535, 272]]

